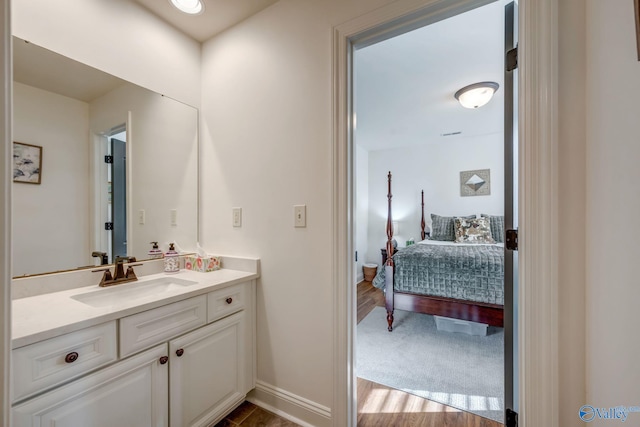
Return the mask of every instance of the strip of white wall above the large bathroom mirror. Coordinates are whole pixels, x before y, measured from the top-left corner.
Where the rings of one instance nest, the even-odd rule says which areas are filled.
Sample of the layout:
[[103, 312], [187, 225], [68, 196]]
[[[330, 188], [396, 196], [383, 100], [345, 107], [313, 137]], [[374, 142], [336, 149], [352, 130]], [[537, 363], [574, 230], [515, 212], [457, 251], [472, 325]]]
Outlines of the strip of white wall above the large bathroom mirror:
[[133, 1], [15, 0], [13, 34], [190, 105], [200, 43]]

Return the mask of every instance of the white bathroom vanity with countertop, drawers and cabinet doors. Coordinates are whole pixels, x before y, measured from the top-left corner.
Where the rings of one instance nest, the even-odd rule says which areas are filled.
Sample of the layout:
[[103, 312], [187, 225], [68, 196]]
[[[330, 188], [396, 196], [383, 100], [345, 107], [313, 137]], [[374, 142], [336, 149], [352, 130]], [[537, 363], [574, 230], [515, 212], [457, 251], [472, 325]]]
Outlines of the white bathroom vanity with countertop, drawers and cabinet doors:
[[154, 273], [14, 300], [13, 425], [222, 419], [255, 387], [256, 371], [258, 260], [229, 264], [240, 269]]

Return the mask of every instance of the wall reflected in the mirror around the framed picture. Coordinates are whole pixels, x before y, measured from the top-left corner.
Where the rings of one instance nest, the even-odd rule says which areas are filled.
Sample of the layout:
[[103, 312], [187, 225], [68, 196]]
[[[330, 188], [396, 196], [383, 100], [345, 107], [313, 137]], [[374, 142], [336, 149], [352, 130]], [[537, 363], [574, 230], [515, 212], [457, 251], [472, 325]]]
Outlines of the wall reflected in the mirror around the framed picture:
[[89, 105], [14, 83], [13, 125], [15, 141], [43, 147], [40, 185], [13, 184], [14, 276], [92, 265]]

